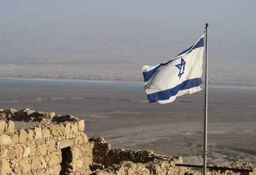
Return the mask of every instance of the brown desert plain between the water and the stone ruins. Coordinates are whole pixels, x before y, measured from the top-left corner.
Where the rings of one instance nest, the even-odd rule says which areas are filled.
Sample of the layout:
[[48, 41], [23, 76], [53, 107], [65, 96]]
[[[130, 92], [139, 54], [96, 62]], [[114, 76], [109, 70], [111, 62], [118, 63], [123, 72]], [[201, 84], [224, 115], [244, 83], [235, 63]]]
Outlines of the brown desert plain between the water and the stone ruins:
[[[0, 109], [30, 108], [83, 119], [88, 137], [202, 164], [202, 92], [148, 103], [144, 91], [0, 88]], [[208, 162], [256, 165], [256, 94], [209, 93]]]

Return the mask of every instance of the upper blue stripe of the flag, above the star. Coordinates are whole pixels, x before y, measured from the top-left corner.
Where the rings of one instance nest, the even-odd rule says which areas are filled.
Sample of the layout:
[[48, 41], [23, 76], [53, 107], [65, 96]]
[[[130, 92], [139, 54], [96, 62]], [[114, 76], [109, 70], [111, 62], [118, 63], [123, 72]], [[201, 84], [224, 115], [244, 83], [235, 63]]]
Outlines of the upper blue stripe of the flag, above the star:
[[[193, 46], [191, 46], [189, 49], [191, 49]], [[191, 49], [189, 51], [189, 49], [186, 49], [185, 51], [181, 52], [179, 55], [182, 55], [184, 53], [186, 53], [187, 51], [189, 51], [188, 53], [192, 52], [192, 50], [199, 48], [199, 47], [204, 47], [204, 37], [202, 37], [193, 47], [193, 49]], [[178, 55], [178, 56], [179, 56]], [[172, 62], [173, 60], [170, 60], [166, 63], [161, 63], [159, 66], [155, 67], [154, 69], [148, 71], [148, 72], [143, 72], [143, 77], [144, 77], [144, 82], [147, 82], [148, 80], [150, 80], [150, 78], [154, 75], [155, 72], [157, 72], [157, 69], [159, 69], [161, 66], [166, 65], [170, 62]]]

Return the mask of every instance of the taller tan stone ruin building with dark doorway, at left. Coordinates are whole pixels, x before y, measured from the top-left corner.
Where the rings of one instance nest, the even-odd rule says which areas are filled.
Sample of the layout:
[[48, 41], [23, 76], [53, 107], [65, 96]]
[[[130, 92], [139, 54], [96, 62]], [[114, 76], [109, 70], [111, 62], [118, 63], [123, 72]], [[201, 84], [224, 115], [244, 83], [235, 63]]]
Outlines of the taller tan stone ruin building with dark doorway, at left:
[[83, 132], [84, 120], [29, 109], [25, 112], [5, 110], [0, 116], [17, 120], [32, 118], [34, 121], [54, 117], [55, 120], [70, 120], [41, 122], [29, 129], [15, 129], [14, 121], [0, 120], [0, 175], [89, 174], [93, 144]]

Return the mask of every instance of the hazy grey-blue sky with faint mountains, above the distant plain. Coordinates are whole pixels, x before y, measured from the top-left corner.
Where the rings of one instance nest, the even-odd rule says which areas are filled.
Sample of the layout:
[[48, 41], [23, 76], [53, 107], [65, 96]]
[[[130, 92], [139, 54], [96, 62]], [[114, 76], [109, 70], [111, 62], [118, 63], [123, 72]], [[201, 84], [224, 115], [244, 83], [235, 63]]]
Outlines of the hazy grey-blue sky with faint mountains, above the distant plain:
[[190, 47], [209, 23], [209, 62], [255, 65], [255, 5], [251, 0], [6, 1], [0, 7], [0, 60], [154, 65]]

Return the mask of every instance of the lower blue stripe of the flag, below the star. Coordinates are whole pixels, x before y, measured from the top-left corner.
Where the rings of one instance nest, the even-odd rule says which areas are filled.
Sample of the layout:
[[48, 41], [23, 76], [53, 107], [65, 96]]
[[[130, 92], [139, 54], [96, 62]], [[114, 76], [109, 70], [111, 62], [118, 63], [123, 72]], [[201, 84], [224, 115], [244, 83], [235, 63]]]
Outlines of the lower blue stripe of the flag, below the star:
[[177, 95], [177, 93], [180, 90], [198, 87], [201, 83], [202, 83], [201, 78], [194, 78], [194, 79], [189, 79], [189, 80], [183, 81], [182, 83], [175, 86], [174, 88], [166, 89], [164, 91], [155, 92], [152, 94], [148, 94], [148, 101], [149, 101], [149, 103], [153, 103], [153, 102], [159, 101], [159, 100], [168, 100], [172, 96]]

